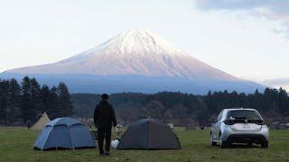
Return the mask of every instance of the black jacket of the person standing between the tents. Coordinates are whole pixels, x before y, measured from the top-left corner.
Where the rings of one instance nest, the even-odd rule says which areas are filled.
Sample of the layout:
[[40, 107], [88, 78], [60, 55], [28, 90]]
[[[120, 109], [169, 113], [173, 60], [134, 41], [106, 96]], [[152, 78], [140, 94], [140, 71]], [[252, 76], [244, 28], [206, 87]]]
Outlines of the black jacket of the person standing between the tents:
[[98, 129], [111, 130], [117, 126], [115, 110], [107, 100], [101, 100], [94, 111], [94, 123]]

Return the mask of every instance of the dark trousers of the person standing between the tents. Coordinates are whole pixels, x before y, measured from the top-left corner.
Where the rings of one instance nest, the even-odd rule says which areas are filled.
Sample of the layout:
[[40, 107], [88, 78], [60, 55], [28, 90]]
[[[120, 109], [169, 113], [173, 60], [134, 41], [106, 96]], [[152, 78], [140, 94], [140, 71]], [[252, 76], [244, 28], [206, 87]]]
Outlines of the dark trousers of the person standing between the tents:
[[110, 142], [111, 142], [111, 129], [102, 130], [98, 129], [98, 149], [99, 153], [103, 154], [103, 141], [106, 139], [106, 151], [110, 151]]

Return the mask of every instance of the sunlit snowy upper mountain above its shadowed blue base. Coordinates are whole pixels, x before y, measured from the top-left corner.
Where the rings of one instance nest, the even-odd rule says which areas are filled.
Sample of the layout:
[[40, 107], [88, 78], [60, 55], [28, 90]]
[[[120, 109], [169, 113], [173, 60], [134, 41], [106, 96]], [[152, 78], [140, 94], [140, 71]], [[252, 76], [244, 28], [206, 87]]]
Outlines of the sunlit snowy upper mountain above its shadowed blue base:
[[239, 80], [174, 48], [154, 32], [146, 30], [123, 31], [98, 47], [74, 57], [53, 64], [16, 68], [6, 73]]

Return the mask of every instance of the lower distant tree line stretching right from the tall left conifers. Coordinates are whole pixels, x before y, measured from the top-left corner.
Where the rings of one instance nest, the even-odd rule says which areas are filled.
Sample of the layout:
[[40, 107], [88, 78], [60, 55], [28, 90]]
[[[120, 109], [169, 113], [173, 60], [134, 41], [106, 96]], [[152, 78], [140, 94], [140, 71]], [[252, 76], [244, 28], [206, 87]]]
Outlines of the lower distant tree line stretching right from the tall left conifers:
[[[71, 94], [75, 116], [91, 118], [100, 94]], [[254, 94], [209, 92], [206, 95], [163, 92], [158, 94], [122, 93], [109, 97], [119, 121], [135, 121], [152, 117], [172, 121], [177, 125], [209, 124], [210, 117], [225, 108], [254, 108], [266, 119], [279, 121], [289, 117], [289, 98], [286, 91], [266, 88]]]

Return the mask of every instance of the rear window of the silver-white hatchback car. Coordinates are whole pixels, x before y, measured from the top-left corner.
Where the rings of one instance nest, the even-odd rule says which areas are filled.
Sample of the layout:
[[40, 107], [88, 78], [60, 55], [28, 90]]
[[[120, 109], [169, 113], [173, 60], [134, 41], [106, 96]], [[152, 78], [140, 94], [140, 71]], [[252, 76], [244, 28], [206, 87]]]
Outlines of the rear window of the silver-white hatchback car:
[[261, 115], [253, 110], [234, 110], [227, 113], [228, 120], [247, 119], [247, 120], [263, 120]]

